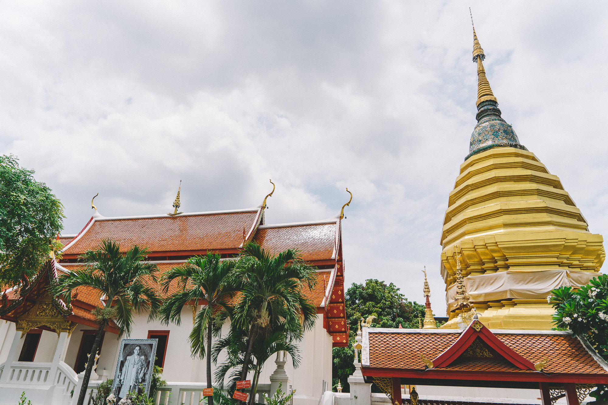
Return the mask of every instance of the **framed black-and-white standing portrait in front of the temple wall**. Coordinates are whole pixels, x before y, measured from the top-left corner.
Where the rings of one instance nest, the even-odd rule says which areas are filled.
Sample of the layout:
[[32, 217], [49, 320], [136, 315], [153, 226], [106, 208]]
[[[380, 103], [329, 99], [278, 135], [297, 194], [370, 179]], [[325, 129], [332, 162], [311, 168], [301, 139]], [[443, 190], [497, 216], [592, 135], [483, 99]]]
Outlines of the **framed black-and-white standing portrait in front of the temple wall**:
[[122, 399], [133, 391], [148, 394], [158, 339], [122, 339], [112, 393]]

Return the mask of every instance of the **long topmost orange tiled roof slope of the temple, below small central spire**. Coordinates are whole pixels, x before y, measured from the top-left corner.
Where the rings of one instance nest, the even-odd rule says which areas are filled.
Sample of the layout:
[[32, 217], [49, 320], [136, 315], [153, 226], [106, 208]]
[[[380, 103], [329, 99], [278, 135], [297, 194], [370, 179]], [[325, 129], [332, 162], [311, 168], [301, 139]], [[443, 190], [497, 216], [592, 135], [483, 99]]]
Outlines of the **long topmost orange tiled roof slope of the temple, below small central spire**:
[[100, 220], [64, 253], [82, 254], [105, 238], [118, 241], [123, 251], [134, 244], [151, 252], [234, 249], [243, 243], [243, 227], [249, 232], [256, 215], [245, 211]]

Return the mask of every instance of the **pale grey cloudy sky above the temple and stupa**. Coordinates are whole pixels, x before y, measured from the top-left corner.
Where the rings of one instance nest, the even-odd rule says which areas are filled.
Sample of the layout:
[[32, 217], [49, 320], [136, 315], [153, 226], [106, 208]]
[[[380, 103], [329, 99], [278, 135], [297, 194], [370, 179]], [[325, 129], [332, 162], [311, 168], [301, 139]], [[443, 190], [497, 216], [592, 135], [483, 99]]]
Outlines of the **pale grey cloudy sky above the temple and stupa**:
[[608, 5], [477, 1], [0, 4], [0, 152], [78, 232], [106, 216], [257, 206], [343, 221], [347, 283], [435, 313], [447, 194], [468, 154], [469, 9], [503, 118], [608, 234]]

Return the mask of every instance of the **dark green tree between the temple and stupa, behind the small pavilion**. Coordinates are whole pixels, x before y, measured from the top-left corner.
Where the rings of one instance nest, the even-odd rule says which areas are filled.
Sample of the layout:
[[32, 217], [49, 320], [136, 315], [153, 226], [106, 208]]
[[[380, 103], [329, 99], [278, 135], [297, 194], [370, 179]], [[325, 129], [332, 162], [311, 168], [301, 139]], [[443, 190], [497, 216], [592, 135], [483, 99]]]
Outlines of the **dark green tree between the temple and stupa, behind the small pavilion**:
[[[354, 372], [352, 344], [357, 335], [361, 318], [375, 316], [372, 328], [418, 328], [418, 317], [424, 319], [424, 305], [408, 301], [393, 283], [387, 285], [375, 279], [365, 280], [365, 284], [353, 283], [345, 294], [346, 317], [348, 320], [348, 346], [334, 347], [332, 383], [340, 381], [342, 392], [350, 392], [348, 376]], [[374, 392], [379, 392], [372, 386]]]

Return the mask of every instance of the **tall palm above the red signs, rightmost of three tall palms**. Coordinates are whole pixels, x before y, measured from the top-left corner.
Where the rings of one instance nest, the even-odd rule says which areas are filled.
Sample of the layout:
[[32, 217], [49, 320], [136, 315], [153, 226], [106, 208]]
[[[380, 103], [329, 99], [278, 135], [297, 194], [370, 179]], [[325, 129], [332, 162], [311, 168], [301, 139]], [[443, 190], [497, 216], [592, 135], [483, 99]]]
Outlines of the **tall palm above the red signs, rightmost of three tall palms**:
[[[243, 282], [241, 299], [235, 308], [234, 327], [247, 328], [247, 348], [241, 369], [241, 380], [247, 377], [251, 353], [257, 339], [272, 333], [273, 327], [286, 324], [286, 331], [310, 330], [317, 308], [303, 289], [314, 288], [316, 268], [302, 260], [298, 251], [287, 249], [271, 255], [257, 243], [243, 247], [237, 274]], [[296, 326], [297, 325], [297, 326]]]

